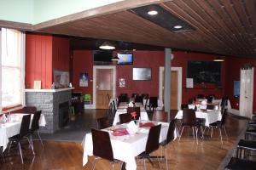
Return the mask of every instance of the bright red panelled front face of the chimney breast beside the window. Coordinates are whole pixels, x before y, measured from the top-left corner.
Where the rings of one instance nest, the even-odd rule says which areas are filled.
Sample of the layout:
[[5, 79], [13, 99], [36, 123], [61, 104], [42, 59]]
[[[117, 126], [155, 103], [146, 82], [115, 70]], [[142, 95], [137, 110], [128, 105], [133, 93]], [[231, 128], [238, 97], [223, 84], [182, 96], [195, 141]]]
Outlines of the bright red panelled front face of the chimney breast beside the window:
[[42, 88], [52, 84], [52, 40], [49, 35], [26, 34], [26, 88], [41, 80]]

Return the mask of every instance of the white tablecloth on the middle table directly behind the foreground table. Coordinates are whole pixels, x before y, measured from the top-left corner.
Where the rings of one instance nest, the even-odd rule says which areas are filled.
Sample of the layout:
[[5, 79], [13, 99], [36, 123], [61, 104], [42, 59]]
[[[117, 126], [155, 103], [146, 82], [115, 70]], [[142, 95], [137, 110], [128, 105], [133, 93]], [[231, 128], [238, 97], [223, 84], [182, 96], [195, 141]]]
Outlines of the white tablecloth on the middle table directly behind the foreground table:
[[[148, 121], [148, 113], [145, 111], [142, 104], [136, 103], [135, 105], [141, 108], [141, 120]], [[113, 126], [119, 122], [119, 115], [127, 113], [127, 104], [120, 104], [118, 110], [115, 112], [115, 116], [113, 118]]]

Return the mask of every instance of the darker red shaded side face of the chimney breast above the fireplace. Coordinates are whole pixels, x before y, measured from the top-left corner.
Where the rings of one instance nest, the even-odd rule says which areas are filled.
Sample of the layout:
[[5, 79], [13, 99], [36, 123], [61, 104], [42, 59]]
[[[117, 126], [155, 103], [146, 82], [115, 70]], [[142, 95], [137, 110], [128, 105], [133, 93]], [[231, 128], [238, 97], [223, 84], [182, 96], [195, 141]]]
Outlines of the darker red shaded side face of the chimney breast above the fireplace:
[[70, 47], [69, 38], [53, 37], [53, 69], [69, 71]]

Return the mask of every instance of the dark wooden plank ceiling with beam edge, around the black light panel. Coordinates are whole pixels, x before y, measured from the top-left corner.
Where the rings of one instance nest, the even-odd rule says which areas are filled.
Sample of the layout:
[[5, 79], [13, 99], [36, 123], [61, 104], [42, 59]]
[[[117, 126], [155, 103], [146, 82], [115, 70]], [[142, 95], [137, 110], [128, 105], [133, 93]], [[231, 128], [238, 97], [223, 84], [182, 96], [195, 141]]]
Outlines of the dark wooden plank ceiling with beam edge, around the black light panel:
[[[256, 58], [255, 0], [135, 2], [131, 0], [90, 9], [35, 25], [32, 30]], [[159, 3], [195, 30], [174, 33], [128, 11], [150, 2]]]

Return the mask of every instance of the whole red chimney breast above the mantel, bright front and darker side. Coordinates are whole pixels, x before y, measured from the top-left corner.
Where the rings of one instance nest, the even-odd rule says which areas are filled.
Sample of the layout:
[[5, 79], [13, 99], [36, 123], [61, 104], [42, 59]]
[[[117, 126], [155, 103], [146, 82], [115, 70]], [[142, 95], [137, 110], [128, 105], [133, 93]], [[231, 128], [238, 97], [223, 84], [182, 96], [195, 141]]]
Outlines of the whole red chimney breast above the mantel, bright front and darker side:
[[26, 34], [26, 88], [41, 80], [41, 88], [51, 88], [53, 69], [69, 71], [69, 39], [43, 34]]

